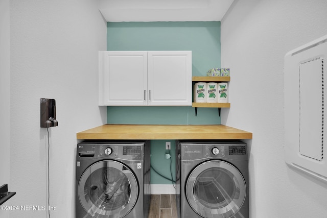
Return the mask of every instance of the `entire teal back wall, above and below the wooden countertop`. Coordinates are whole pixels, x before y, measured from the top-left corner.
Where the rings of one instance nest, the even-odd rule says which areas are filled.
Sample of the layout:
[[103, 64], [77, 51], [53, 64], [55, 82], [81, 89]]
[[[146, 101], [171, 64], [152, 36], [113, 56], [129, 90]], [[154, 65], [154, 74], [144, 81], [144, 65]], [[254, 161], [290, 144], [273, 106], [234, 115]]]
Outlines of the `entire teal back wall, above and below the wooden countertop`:
[[[108, 51], [192, 51], [192, 75], [206, 76], [220, 67], [220, 22], [108, 22]], [[107, 107], [108, 124], [220, 124], [217, 108]], [[171, 159], [165, 159], [165, 142], [151, 141], [151, 165], [160, 174], [175, 179], [175, 140]], [[172, 166], [170, 167], [170, 161]], [[171, 184], [151, 170], [152, 184]]]

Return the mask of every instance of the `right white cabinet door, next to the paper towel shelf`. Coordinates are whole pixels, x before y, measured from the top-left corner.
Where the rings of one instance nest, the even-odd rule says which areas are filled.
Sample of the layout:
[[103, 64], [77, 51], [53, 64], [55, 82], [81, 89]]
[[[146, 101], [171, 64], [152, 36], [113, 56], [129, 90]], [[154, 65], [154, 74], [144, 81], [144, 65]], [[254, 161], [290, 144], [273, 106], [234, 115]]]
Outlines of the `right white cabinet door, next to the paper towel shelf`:
[[148, 105], [192, 105], [192, 51], [148, 52], [148, 89]]

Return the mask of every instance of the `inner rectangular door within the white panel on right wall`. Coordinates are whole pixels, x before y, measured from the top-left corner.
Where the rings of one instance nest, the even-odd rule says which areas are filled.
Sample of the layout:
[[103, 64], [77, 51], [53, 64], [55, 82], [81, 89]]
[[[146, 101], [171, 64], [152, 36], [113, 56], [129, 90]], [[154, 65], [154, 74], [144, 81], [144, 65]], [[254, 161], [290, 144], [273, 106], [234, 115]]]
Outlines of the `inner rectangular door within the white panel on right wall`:
[[299, 65], [299, 152], [321, 161], [323, 148], [323, 59]]

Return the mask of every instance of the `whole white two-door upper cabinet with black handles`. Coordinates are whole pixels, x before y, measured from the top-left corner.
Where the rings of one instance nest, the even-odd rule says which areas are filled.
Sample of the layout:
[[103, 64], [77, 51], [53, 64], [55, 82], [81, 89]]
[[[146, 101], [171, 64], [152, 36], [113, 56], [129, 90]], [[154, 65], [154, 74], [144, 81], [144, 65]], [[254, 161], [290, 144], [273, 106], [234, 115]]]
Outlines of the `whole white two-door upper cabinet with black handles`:
[[192, 52], [100, 51], [99, 105], [192, 105]]

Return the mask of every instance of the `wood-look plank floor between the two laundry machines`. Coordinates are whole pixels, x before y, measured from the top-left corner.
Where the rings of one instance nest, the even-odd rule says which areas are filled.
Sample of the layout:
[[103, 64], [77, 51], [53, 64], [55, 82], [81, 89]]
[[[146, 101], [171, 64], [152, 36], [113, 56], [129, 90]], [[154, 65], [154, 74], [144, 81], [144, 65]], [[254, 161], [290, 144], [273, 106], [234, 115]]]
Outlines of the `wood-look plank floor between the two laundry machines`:
[[151, 195], [149, 218], [177, 218], [175, 195]]

